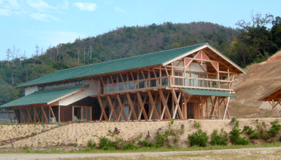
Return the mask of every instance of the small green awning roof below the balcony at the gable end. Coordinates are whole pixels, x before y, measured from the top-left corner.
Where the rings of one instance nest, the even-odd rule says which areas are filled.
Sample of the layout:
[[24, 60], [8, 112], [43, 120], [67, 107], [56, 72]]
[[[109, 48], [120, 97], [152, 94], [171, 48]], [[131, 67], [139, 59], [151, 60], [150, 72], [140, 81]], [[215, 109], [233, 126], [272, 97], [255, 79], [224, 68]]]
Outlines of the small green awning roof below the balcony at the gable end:
[[230, 96], [230, 97], [236, 97], [232, 94], [229, 94], [224, 91], [219, 90], [199, 90], [199, 89], [190, 89], [190, 88], [180, 88], [183, 92], [186, 92], [190, 95], [199, 95], [199, 96]]

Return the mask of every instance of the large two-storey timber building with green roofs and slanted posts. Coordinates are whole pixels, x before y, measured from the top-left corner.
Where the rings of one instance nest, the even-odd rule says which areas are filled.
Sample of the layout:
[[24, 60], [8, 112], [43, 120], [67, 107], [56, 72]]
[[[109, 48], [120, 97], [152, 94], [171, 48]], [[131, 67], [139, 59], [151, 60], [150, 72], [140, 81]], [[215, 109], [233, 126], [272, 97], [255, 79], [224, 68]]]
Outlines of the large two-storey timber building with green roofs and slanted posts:
[[25, 123], [225, 119], [241, 73], [212, 46], [197, 44], [59, 70], [19, 85], [26, 96], [0, 107]]

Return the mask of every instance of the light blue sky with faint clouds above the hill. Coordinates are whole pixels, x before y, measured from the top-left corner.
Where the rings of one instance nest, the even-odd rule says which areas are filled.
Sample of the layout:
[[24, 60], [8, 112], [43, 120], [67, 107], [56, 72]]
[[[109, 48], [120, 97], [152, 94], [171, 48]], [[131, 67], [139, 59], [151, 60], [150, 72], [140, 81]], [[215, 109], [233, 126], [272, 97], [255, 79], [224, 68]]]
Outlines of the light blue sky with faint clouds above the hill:
[[[0, 0], [0, 60], [15, 48], [18, 57], [31, 57], [36, 44], [43, 52], [51, 45], [104, 34], [117, 27], [206, 21], [236, 27], [251, 13], [281, 16], [277, 0], [143, 0], [47, 1]], [[271, 26], [269, 26], [271, 27]]]

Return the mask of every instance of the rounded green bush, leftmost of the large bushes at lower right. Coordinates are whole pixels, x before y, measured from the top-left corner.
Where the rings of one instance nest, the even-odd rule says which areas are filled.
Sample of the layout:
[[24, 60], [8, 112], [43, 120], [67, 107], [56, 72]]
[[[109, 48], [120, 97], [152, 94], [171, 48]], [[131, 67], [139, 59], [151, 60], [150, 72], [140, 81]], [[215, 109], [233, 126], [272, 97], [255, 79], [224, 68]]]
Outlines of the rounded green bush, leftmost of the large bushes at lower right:
[[206, 132], [203, 132], [201, 129], [196, 131], [193, 134], [188, 134], [188, 142], [190, 146], [207, 146], [209, 137]]

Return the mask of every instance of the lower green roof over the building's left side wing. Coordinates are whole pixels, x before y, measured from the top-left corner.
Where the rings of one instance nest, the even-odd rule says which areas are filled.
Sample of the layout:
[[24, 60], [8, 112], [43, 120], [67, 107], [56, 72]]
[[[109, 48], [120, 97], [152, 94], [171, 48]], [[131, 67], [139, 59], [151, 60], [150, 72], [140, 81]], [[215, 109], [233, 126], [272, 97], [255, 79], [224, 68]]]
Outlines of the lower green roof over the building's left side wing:
[[50, 101], [53, 101], [56, 98], [60, 98], [61, 96], [74, 92], [75, 90], [79, 90], [81, 88], [86, 88], [86, 87], [88, 87], [88, 85], [80, 85], [80, 86], [75, 86], [73, 88], [63, 88], [59, 90], [34, 92], [32, 94], [28, 94], [27, 96], [23, 96], [14, 101], [11, 101], [10, 103], [1, 105], [0, 107], [12, 107], [18, 105], [34, 105], [40, 103], [49, 103]]

